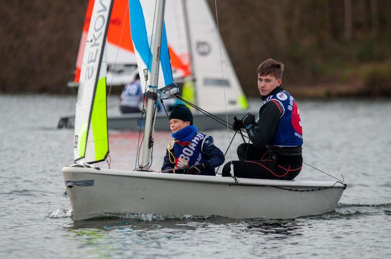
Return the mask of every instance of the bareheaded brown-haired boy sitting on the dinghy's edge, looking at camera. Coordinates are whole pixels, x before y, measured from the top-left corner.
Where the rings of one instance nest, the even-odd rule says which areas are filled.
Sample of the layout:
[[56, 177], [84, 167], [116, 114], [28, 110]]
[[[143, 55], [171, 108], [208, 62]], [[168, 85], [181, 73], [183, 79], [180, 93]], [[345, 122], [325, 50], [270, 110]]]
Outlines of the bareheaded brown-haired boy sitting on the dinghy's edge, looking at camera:
[[[237, 177], [291, 180], [302, 169], [302, 121], [295, 99], [281, 86], [283, 70], [284, 65], [272, 59], [259, 65], [260, 119], [255, 122], [247, 113], [232, 125], [244, 128], [253, 142], [238, 146], [239, 161], [233, 161]], [[231, 176], [230, 164], [224, 165], [222, 176]]]

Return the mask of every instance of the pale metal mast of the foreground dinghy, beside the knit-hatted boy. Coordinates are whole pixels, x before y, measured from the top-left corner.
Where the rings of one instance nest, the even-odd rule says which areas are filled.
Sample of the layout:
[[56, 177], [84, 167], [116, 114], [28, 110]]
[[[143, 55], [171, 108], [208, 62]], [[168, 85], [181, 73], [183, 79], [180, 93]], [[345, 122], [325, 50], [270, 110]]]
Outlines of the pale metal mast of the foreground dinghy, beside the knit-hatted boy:
[[154, 117], [156, 112], [156, 96], [157, 82], [159, 76], [159, 60], [160, 60], [160, 44], [162, 40], [162, 29], [164, 19], [165, 0], [157, 0], [155, 8], [155, 19], [153, 28], [155, 30], [152, 41], [152, 67], [151, 79], [148, 91], [145, 93], [147, 97], [147, 114], [145, 118], [144, 141], [142, 146], [141, 165], [142, 169], [148, 169], [150, 163], [150, 155], [152, 151], [152, 130], [154, 125]]

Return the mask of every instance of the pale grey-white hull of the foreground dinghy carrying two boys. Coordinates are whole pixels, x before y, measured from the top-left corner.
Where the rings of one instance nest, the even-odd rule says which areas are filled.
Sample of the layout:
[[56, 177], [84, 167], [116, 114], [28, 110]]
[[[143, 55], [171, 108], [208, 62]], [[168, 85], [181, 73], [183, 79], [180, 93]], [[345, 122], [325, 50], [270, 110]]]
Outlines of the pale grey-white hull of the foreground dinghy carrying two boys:
[[84, 167], [64, 167], [63, 177], [74, 220], [128, 213], [289, 219], [333, 210], [345, 189], [340, 182], [235, 183], [232, 178]]

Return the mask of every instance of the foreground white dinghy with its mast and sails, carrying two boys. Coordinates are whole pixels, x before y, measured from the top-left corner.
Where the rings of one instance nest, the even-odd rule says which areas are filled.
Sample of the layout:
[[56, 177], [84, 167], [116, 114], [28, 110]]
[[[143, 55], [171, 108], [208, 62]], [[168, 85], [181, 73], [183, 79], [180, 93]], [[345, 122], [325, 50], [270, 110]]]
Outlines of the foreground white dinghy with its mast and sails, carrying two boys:
[[[333, 210], [346, 187], [339, 180], [236, 179], [147, 172], [156, 96], [167, 98], [178, 91], [167, 51], [164, 2], [130, 0], [131, 29], [138, 31], [138, 37], [132, 38], [138, 70], [149, 86], [144, 132], [148, 138], [142, 143], [140, 171], [93, 167], [109, 154], [104, 50], [112, 0], [94, 3], [76, 103], [76, 164], [62, 169], [73, 219], [133, 213], [286, 219]], [[151, 9], [155, 20], [148, 15]]]

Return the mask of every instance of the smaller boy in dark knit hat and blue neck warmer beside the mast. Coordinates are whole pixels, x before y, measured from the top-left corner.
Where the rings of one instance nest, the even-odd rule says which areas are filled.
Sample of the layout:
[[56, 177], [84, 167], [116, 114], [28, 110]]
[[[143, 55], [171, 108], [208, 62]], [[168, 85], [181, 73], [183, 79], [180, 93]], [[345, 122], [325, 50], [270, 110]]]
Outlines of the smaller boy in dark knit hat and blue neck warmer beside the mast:
[[224, 155], [213, 144], [211, 136], [197, 133], [190, 109], [183, 104], [177, 104], [169, 119], [174, 139], [167, 147], [162, 171], [215, 176], [215, 167], [224, 162]]

